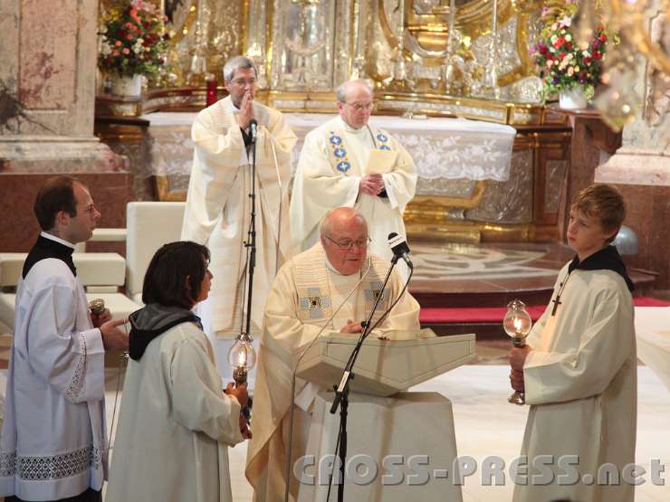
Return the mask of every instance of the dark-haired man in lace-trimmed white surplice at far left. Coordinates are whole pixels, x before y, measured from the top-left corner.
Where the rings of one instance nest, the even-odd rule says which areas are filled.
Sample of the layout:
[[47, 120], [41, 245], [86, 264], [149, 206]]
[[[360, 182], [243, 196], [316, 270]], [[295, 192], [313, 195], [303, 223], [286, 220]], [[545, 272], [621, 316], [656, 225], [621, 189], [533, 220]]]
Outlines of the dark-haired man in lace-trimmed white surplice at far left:
[[0, 496], [101, 500], [107, 478], [104, 353], [128, 336], [106, 309], [91, 317], [72, 252], [101, 217], [71, 177], [41, 188], [34, 212], [43, 229], [16, 289], [14, 336], [0, 440]]

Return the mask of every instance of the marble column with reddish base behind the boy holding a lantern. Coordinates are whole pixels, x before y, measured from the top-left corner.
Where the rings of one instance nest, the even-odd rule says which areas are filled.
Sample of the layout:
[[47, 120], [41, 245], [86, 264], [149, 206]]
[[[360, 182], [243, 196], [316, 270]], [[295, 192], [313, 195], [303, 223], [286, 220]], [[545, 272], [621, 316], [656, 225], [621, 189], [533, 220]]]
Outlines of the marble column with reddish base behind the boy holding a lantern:
[[[652, 39], [667, 41], [668, 20], [661, 2], [648, 11]], [[665, 35], [664, 35], [665, 30]], [[670, 47], [665, 46], [670, 54]], [[597, 182], [617, 185], [627, 201], [627, 224], [637, 232], [639, 252], [627, 257], [638, 268], [658, 272], [656, 289], [670, 289], [670, 85], [640, 58], [635, 90], [644, 106], [623, 131], [622, 145], [598, 166]]]

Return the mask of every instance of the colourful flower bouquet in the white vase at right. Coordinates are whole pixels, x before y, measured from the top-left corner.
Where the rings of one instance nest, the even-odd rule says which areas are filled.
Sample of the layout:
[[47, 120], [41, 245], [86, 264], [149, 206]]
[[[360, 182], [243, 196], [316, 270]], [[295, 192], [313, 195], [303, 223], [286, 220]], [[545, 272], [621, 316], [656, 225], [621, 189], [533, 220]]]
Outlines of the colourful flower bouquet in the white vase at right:
[[590, 43], [579, 44], [571, 29], [575, 14], [575, 0], [567, 0], [558, 10], [545, 7], [541, 14], [544, 28], [530, 52], [544, 81], [545, 95], [581, 88], [592, 101], [600, 82], [608, 33], [598, 25]]

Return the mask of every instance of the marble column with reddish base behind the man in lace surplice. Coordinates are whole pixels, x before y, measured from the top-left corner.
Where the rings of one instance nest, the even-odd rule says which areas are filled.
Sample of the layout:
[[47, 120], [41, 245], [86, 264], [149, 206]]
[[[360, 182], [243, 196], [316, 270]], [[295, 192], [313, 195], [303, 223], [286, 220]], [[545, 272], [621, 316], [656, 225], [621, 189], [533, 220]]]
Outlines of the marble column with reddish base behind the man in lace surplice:
[[16, 215], [0, 223], [0, 251], [33, 241], [47, 175], [93, 176], [99, 198], [113, 194], [101, 225], [123, 226], [127, 161], [93, 136], [97, 17], [97, 0], [0, 2], [0, 205]]

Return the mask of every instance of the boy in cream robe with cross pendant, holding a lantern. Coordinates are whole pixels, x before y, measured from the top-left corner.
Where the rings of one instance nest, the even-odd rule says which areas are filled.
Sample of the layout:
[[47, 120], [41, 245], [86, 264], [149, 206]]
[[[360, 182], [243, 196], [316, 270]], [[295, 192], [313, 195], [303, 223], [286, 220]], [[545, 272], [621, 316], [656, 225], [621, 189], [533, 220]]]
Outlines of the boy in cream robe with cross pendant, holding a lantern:
[[[560, 270], [528, 346], [512, 349], [512, 386], [525, 389], [531, 405], [522, 446], [527, 485], [515, 486], [515, 502], [633, 500], [634, 486], [621, 477], [636, 445], [633, 284], [609, 245], [624, 216], [614, 188], [591, 185], [579, 193], [567, 232], [577, 256]], [[608, 481], [606, 464], [618, 481]]]

